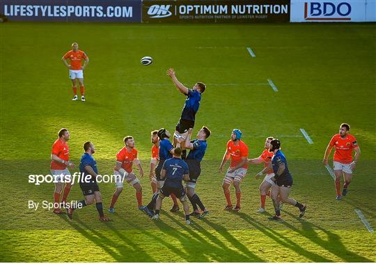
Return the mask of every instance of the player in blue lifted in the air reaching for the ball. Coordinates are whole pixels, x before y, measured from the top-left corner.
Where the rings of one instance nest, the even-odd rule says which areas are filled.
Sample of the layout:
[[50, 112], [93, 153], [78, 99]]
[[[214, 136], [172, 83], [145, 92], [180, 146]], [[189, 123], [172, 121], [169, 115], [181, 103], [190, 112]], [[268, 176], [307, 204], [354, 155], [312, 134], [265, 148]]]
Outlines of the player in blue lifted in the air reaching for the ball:
[[[171, 77], [173, 84], [175, 84], [176, 88], [178, 88], [178, 91], [187, 96], [187, 99], [185, 99], [184, 107], [182, 109], [182, 114], [180, 116], [178, 124], [175, 127], [173, 143], [174, 146], [176, 146], [178, 139], [180, 139], [180, 137], [182, 137], [182, 139], [185, 139], [187, 137], [189, 128], [194, 128], [196, 113], [198, 111], [198, 108], [200, 107], [201, 94], [205, 91], [206, 85], [202, 82], [197, 82], [191, 89], [185, 87], [176, 78], [175, 70], [173, 70], [173, 68], [167, 70], [167, 75]], [[187, 155], [187, 150], [185, 150], [185, 146], [182, 146], [182, 149], [182, 158], [184, 160], [185, 156]]]

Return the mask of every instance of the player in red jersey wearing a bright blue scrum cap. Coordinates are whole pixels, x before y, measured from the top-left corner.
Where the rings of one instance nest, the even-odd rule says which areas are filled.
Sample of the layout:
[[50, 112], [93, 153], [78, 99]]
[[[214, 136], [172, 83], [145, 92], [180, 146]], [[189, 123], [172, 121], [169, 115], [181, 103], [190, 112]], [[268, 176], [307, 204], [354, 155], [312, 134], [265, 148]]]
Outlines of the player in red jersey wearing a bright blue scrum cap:
[[231, 139], [227, 142], [227, 148], [224, 154], [224, 158], [222, 159], [221, 166], [219, 166], [219, 171], [222, 173], [224, 169], [224, 164], [226, 164], [228, 159], [231, 157], [230, 166], [226, 172], [224, 183], [222, 184], [222, 188], [224, 189], [224, 195], [227, 201], [225, 210], [233, 210], [233, 203], [231, 203], [230, 198], [231, 184], [233, 184], [235, 187], [237, 201], [234, 210], [240, 210], [240, 183], [242, 182], [248, 169], [248, 146], [246, 146], [246, 144], [240, 140], [241, 137], [242, 132], [240, 130], [234, 129], [231, 133]]

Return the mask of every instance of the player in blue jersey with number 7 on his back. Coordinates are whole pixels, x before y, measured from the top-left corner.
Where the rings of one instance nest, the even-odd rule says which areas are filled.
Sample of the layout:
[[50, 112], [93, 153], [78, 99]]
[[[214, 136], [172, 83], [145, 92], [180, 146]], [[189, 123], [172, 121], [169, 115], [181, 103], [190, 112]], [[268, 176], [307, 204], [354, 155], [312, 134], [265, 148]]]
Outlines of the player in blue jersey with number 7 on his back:
[[155, 203], [155, 215], [152, 219], [159, 218], [159, 210], [162, 207], [162, 200], [170, 194], [175, 194], [176, 197], [182, 202], [185, 212], [185, 222], [191, 224], [189, 220], [189, 204], [187, 202], [187, 194], [185, 194], [182, 180], [189, 180], [188, 164], [182, 160], [182, 149], [176, 147], [173, 150], [173, 157], [166, 160], [163, 164], [161, 171], [161, 178], [165, 179], [164, 185], [159, 192], [157, 202]]

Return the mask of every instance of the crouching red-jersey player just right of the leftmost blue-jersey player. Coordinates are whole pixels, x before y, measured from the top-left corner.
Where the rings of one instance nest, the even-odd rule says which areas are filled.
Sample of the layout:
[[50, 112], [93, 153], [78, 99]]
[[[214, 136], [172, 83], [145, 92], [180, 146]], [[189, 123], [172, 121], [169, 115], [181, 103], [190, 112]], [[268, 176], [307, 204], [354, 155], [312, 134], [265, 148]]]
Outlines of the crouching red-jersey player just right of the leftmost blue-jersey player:
[[132, 136], [127, 136], [124, 138], [125, 146], [119, 150], [116, 154], [116, 166], [113, 171], [113, 175], [116, 176], [116, 190], [112, 195], [111, 205], [109, 206], [109, 212], [115, 212], [113, 207], [116, 201], [118, 201], [118, 196], [123, 191], [123, 181], [126, 180], [127, 183], [132, 185], [136, 189], [136, 199], [139, 209], [142, 210], [142, 187], [140, 180], [134, 175], [132, 170], [133, 163], [139, 167], [140, 177], [143, 177], [143, 169], [141, 162], [137, 157], [137, 150], [134, 148], [134, 139]]

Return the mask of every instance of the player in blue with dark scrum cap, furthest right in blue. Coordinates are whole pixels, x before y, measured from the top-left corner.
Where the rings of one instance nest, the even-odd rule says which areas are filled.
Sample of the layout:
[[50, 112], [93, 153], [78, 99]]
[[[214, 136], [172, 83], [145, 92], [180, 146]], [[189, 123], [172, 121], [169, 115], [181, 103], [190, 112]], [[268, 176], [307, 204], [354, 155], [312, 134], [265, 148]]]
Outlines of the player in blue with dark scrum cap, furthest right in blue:
[[288, 171], [288, 164], [285, 155], [281, 151], [281, 141], [279, 141], [279, 139], [273, 139], [270, 141], [269, 151], [274, 153], [271, 164], [273, 167], [274, 176], [271, 178], [271, 180], [276, 183], [276, 185], [272, 186], [272, 200], [276, 215], [274, 215], [274, 217], [269, 217], [269, 219], [281, 219], [281, 208], [279, 207], [278, 196], [280, 196], [283, 203], [289, 203], [290, 205], [299, 208], [299, 217], [303, 217], [304, 212], [306, 212], [306, 205], [302, 205], [295, 199], [288, 196], [292, 187], [292, 176], [290, 171]]

